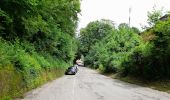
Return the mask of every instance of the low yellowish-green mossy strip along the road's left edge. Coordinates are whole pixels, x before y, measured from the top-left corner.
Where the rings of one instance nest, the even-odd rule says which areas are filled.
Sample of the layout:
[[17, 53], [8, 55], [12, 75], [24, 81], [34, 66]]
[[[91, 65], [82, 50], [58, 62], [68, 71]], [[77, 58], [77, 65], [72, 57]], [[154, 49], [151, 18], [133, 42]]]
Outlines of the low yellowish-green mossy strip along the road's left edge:
[[26, 86], [22, 74], [12, 66], [6, 66], [0, 69], [0, 100], [12, 100], [15, 97], [22, 98], [25, 92], [62, 76], [64, 71], [64, 69], [42, 70], [40, 75], [29, 86]]

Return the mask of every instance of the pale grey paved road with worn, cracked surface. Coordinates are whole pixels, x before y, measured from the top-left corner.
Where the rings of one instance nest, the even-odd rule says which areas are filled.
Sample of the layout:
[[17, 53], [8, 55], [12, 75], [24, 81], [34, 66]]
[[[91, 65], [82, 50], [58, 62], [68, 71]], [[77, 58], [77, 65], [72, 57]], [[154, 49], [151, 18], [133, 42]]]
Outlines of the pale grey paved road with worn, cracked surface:
[[26, 94], [23, 100], [170, 100], [170, 94], [128, 84], [81, 67]]

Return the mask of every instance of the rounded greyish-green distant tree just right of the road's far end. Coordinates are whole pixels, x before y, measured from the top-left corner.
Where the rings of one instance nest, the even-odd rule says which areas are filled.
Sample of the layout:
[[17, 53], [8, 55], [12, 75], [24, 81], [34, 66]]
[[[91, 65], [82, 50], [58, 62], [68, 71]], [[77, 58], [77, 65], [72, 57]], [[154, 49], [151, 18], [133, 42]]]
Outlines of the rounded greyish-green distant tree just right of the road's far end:
[[110, 34], [112, 27], [110, 20], [101, 20], [90, 22], [86, 28], [80, 30], [81, 52], [86, 55], [92, 45], [102, 40], [107, 34]]

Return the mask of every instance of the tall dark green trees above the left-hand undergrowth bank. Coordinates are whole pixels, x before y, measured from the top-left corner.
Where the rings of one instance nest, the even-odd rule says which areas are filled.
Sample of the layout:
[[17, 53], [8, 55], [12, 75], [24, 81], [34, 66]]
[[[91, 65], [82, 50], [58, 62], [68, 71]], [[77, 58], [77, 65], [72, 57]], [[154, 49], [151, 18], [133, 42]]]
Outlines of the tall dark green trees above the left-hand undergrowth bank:
[[70, 58], [68, 47], [76, 48], [79, 0], [1, 0], [0, 7], [1, 37], [28, 41], [36, 51]]

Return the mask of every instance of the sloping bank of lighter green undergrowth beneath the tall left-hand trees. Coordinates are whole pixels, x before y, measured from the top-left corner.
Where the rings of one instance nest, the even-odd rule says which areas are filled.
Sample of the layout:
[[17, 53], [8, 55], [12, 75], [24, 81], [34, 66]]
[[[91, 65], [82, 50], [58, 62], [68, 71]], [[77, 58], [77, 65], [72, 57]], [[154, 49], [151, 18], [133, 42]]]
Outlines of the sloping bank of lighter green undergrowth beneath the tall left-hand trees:
[[29, 43], [0, 38], [0, 100], [11, 100], [64, 74], [63, 59], [37, 52]]

